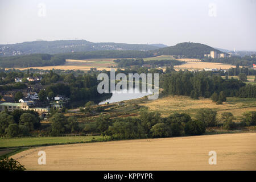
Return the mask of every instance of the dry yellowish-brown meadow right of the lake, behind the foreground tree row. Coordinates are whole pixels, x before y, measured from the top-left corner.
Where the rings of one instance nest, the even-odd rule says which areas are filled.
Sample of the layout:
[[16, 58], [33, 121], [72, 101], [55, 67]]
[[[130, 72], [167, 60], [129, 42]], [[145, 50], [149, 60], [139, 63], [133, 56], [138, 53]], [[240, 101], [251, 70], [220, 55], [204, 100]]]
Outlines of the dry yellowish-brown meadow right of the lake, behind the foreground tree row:
[[165, 96], [158, 98], [158, 100], [148, 100], [146, 103], [139, 105], [148, 107], [150, 111], [159, 111], [163, 116], [168, 116], [175, 112], [184, 112], [193, 116], [200, 109], [210, 108], [216, 110], [218, 114], [224, 111], [231, 112], [239, 119], [245, 111], [256, 111], [255, 98], [228, 97], [227, 101], [222, 105], [216, 105], [209, 98], [193, 100], [188, 96]]

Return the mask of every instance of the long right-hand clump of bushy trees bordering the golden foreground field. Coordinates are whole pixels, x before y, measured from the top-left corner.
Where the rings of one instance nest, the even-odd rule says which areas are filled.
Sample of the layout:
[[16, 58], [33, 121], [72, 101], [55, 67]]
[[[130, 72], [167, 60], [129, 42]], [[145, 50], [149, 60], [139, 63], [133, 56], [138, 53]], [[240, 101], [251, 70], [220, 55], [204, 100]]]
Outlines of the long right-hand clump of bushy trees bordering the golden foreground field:
[[240, 126], [256, 125], [256, 112], [244, 113], [241, 122], [234, 122], [232, 113], [224, 112], [217, 119], [212, 109], [200, 109], [192, 119], [186, 113], [172, 113], [161, 117], [157, 112], [142, 111], [139, 117], [110, 118], [105, 115], [85, 125], [85, 133], [101, 133], [112, 139], [139, 139], [201, 135], [208, 127], [223, 127], [226, 130]]

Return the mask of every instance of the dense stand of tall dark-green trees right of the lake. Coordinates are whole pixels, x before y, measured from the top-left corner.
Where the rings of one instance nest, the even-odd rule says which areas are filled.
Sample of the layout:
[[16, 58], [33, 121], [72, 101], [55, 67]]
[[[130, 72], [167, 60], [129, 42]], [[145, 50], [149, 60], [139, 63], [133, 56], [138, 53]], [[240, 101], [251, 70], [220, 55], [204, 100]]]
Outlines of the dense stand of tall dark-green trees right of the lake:
[[[171, 95], [209, 98], [213, 94], [222, 97], [256, 98], [256, 85], [246, 85], [237, 79], [223, 79], [212, 72], [171, 72], [160, 77], [164, 93]], [[218, 99], [217, 99], [218, 100]], [[222, 100], [222, 99], [221, 99]], [[225, 99], [223, 99], [225, 100]]]

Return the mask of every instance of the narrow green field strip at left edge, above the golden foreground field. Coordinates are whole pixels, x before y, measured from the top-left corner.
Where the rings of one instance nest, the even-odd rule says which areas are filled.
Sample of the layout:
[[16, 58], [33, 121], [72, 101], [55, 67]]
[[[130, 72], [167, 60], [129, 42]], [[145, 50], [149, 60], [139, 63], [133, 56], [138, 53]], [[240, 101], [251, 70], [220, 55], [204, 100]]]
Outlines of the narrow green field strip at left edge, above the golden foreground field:
[[79, 137], [24, 137], [24, 138], [1, 138], [0, 148], [43, 146], [50, 144], [68, 144], [90, 142], [92, 139], [101, 139], [101, 136]]

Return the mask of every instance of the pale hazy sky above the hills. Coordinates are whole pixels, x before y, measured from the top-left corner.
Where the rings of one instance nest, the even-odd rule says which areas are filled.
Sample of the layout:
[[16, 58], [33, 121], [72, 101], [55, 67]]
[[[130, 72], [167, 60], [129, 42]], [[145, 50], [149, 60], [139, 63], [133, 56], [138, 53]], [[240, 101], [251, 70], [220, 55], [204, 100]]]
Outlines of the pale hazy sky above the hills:
[[[45, 6], [45, 8], [44, 8]], [[0, 0], [0, 44], [85, 39], [256, 51], [255, 0]]]

